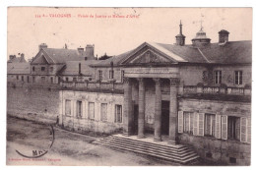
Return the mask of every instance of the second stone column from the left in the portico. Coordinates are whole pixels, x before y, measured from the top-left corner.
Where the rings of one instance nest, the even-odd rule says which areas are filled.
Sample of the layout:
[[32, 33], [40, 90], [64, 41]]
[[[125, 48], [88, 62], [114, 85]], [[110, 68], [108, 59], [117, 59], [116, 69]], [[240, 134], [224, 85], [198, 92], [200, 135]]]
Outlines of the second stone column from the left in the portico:
[[145, 83], [143, 78], [139, 81], [139, 116], [138, 116], [138, 138], [145, 138], [144, 126], [145, 126]]

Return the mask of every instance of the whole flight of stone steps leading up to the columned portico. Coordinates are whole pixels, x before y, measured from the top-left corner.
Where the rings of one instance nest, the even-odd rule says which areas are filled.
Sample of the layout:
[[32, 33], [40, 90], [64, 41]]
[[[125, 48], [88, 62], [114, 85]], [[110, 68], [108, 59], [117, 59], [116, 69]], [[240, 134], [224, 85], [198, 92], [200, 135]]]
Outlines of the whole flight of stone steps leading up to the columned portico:
[[[161, 159], [181, 163], [193, 164], [199, 160], [199, 156], [192, 149], [181, 144], [169, 144], [153, 142], [153, 139], [136, 139], [137, 137], [124, 137], [113, 135], [96, 140], [95, 144], [102, 144], [112, 148], [142, 153]], [[151, 140], [151, 142], [149, 142]]]

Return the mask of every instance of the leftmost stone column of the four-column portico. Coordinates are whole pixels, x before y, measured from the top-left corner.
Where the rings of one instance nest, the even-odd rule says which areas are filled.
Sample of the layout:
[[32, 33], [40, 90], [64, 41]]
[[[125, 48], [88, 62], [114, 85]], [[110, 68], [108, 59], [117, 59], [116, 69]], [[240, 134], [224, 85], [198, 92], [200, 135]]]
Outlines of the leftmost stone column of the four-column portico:
[[123, 135], [132, 134], [132, 84], [130, 78], [124, 78], [124, 103], [123, 103]]

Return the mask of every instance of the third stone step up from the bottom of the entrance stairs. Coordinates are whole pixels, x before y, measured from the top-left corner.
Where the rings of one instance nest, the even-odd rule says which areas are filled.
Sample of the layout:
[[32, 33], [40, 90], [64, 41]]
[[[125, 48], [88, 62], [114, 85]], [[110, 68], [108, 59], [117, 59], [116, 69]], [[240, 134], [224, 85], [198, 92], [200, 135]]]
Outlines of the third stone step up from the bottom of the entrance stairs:
[[144, 148], [144, 149], [151, 149], [151, 150], [158, 150], [160, 153], [164, 153], [164, 154], [173, 154], [173, 155], [176, 155], [176, 156], [186, 156], [188, 154], [192, 154], [194, 153], [194, 151], [190, 150], [190, 149], [186, 149], [184, 151], [180, 151], [178, 152], [177, 150], [171, 148], [160, 148], [159, 145], [148, 145], [147, 143], [136, 143], [136, 142], [125, 142], [125, 141], [118, 141], [117, 139], [111, 139], [111, 138], [108, 138], [108, 139], [104, 139], [102, 140], [101, 142], [115, 142], [115, 143], [118, 143], [118, 142], [122, 142], [124, 144], [127, 144], [127, 145], [136, 145], [137, 147], [141, 147], [141, 148]]

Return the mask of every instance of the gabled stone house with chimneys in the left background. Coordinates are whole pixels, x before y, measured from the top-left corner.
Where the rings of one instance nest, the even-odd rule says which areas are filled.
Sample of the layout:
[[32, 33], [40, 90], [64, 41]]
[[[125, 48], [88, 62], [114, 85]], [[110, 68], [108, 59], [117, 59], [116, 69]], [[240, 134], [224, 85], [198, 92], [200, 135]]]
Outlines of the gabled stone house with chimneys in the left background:
[[[68, 62], [84, 63], [87, 60], [96, 60], [94, 45], [87, 45], [86, 51], [84, 51], [82, 47], [77, 50], [48, 48], [45, 43], [42, 43], [39, 45], [39, 52], [31, 62], [32, 84], [60, 84], [63, 80], [60, 73], [67, 69]], [[72, 70], [73, 64], [69, 63], [69, 65], [71, 68], [68, 70]], [[79, 63], [77, 65], [79, 66]], [[67, 72], [69, 71], [64, 73]]]

